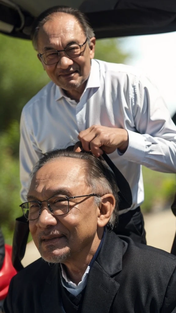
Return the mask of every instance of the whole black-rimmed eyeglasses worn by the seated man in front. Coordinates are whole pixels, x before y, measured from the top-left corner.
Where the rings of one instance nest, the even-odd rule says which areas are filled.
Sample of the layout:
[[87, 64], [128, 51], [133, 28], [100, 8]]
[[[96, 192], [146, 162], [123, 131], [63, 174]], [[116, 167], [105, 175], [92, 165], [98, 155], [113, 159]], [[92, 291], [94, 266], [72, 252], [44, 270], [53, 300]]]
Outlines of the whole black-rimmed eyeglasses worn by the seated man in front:
[[65, 195], [56, 195], [51, 197], [49, 200], [44, 201], [29, 201], [20, 204], [20, 207], [23, 210], [24, 217], [27, 220], [34, 220], [39, 218], [41, 214], [42, 203], [47, 202], [49, 213], [52, 215], [65, 215], [70, 211], [70, 199], [82, 198], [82, 197], [101, 197], [96, 193], [91, 193], [89, 195], [84, 196], [76, 196], [76, 197], [67, 197]]

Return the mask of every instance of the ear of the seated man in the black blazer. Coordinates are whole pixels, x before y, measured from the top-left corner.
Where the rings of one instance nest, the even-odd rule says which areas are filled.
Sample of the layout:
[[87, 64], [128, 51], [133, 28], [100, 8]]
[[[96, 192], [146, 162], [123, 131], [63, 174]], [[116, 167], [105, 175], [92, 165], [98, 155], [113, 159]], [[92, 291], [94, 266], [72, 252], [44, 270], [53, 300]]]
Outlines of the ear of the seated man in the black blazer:
[[114, 211], [116, 200], [111, 193], [101, 197], [101, 204], [99, 206], [97, 226], [104, 227], [109, 222], [112, 212]]

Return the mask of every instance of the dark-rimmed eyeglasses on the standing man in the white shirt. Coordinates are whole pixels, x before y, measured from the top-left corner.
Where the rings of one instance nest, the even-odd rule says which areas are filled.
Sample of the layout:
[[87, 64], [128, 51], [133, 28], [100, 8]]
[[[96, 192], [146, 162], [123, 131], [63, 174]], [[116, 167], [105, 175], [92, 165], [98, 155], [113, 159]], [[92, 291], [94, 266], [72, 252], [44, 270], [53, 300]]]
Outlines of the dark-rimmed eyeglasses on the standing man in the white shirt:
[[84, 44], [72, 44], [64, 50], [52, 50], [48, 52], [44, 52], [43, 54], [39, 53], [39, 57], [44, 61], [46, 65], [52, 65], [60, 60], [59, 52], [65, 52], [66, 56], [70, 59], [76, 59], [81, 55], [81, 48], [86, 44], [87, 39]]

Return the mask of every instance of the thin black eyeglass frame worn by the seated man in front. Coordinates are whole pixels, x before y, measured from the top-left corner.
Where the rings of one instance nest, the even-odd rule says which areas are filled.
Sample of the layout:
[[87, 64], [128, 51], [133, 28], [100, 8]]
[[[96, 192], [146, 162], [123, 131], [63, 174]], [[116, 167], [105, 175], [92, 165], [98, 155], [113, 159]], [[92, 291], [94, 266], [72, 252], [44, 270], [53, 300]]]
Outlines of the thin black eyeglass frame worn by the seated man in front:
[[[51, 200], [52, 198], [54, 197], [66, 197], [67, 198], [67, 201], [68, 201], [68, 212], [67, 213], [64, 213], [64, 214], [59, 214], [59, 215], [56, 215], [54, 214], [53, 212], [51, 212], [52, 208], [50, 207], [50, 204], [49, 204], [49, 200]], [[66, 215], [69, 213], [70, 211], [70, 203], [69, 203], [69, 200], [70, 199], [75, 199], [75, 198], [82, 198], [82, 197], [101, 197], [100, 195], [97, 195], [96, 193], [90, 193], [89, 195], [83, 195], [83, 196], [75, 196], [75, 197], [67, 197], [66, 195], [54, 195], [53, 197], [49, 198], [48, 200], [44, 200], [44, 201], [38, 201], [38, 200], [32, 200], [32, 201], [27, 201], [27, 202], [24, 202], [22, 204], [20, 204], [20, 207], [22, 208], [22, 211], [23, 211], [23, 215], [24, 217], [28, 220], [28, 221], [34, 221], [35, 219], [38, 219], [40, 214], [41, 214], [41, 208], [42, 208], [42, 203], [43, 202], [47, 202], [47, 205], [48, 205], [48, 211], [49, 213], [51, 213], [52, 215], [54, 216], [62, 216], [62, 215]], [[29, 203], [29, 202], [33, 202], [33, 203], [38, 203], [39, 204], [39, 216], [37, 218], [34, 218], [34, 219], [28, 219], [26, 216], [25, 216], [25, 213], [24, 213], [24, 210], [23, 210], [23, 205], [26, 204], [26, 203]]]

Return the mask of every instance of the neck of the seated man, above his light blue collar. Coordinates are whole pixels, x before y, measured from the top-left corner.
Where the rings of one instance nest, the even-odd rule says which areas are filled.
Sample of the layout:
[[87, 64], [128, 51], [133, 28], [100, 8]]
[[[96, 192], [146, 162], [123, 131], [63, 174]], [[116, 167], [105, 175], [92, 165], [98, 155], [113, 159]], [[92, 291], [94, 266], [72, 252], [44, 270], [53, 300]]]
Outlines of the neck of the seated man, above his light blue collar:
[[85, 270], [87, 269], [87, 266], [91, 262], [91, 259], [93, 258], [94, 254], [96, 253], [96, 250], [98, 249], [98, 246], [101, 242], [103, 236], [103, 229], [101, 233], [98, 235], [96, 233], [96, 237], [93, 240], [93, 243], [86, 247], [85, 249], [79, 251], [78, 254], [74, 254], [68, 261], [64, 263], [65, 265], [65, 272], [67, 274], [67, 277], [76, 285], [79, 284], [79, 282], [82, 279], [82, 276], [85, 273]]

